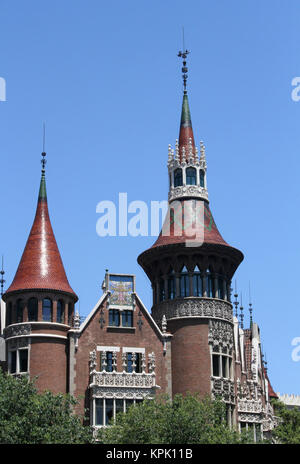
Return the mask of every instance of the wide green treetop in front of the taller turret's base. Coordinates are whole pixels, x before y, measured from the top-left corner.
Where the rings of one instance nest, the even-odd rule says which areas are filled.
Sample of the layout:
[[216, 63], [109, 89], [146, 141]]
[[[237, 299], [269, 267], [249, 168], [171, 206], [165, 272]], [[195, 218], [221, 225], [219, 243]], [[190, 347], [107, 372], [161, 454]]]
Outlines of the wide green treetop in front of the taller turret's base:
[[176, 395], [145, 400], [119, 413], [116, 423], [100, 430], [105, 444], [193, 444], [250, 443], [249, 434], [240, 435], [225, 420], [225, 405], [197, 395]]

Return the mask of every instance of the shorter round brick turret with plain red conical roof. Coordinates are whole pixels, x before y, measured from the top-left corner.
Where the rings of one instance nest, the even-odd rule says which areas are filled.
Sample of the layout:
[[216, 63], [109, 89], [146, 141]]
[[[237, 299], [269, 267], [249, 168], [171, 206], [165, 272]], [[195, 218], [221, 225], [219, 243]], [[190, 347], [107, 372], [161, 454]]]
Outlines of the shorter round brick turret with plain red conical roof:
[[39, 390], [66, 392], [67, 333], [78, 297], [70, 287], [52, 230], [45, 156], [33, 225], [6, 302], [8, 371], [37, 376]]

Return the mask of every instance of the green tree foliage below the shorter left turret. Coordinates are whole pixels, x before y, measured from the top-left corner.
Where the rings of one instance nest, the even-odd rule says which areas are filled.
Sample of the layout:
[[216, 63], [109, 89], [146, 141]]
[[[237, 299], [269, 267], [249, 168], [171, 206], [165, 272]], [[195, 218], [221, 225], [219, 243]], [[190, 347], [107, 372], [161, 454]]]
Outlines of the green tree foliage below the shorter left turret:
[[72, 412], [75, 404], [69, 395], [38, 394], [34, 381], [0, 369], [0, 443], [92, 443], [91, 428]]

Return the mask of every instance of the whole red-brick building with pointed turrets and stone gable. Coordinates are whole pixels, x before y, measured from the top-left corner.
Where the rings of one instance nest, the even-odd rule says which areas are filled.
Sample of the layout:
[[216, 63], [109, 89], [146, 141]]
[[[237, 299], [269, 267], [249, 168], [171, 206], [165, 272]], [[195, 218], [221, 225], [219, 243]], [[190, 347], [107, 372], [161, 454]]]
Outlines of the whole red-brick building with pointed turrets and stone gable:
[[232, 302], [243, 254], [223, 239], [211, 213], [205, 146], [198, 153], [186, 90], [187, 53], [179, 54], [184, 92], [179, 139], [175, 151], [169, 147], [169, 211], [156, 242], [138, 257], [152, 285], [151, 314], [133, 275], [106, 272], [101, 298], [80, 321], [48, 213], [42, 153], [35, 219], [1, 301], [0, 355], [2, 346], [4, 368], [37, 376], [40, 391], [81, 398], [78, 412], [87, 408], [95, 427], [145, 397], [198, 392], [220, 396], [228, 423], [257, 436], [274, 427], [276, 394], [260, 329], [252, 316], [244, 329]]

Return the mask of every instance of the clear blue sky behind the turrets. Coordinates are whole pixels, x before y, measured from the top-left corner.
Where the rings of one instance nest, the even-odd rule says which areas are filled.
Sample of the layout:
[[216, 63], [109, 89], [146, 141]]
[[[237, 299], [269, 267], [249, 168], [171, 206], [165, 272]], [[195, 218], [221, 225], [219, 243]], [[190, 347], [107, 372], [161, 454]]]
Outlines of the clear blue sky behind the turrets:
[[300, 394], [298, 0], [0, 1], [1, 229], [7, 284], [30, 231], [46, 122], [52, 225], [87, 315], [105, 268], [134, 273], [154, 237], [96, 234], [96, 205], [167, 199], [167, 151], [178, 137], [185, 28], [196, 143], [207, 148], [208, 189], [224, 239], [245, 255], [236, 278], [275, 391]]

